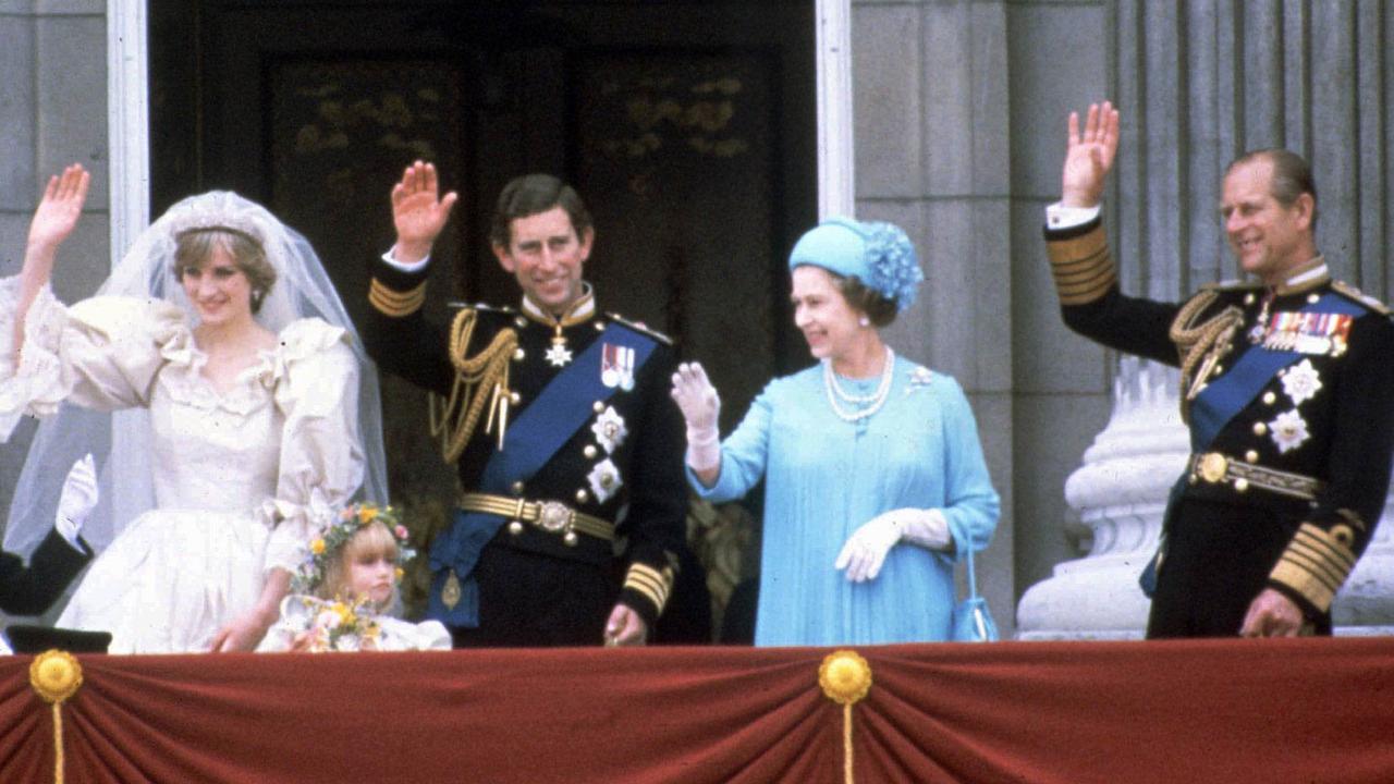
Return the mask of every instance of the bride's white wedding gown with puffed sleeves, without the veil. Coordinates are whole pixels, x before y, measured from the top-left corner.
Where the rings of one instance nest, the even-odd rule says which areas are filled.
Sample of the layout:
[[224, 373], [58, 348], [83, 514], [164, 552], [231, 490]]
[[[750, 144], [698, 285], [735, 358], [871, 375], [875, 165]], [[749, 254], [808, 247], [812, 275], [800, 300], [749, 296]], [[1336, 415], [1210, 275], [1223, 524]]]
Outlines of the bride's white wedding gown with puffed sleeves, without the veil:
[[15, 292], [0, 280], [0, 416], [68, 400], [141, 406], [151, 421], [155, 509], [120, 529], [59, 625], [112, 632], [113, 653], [208, 650], [362, 481], [360, 368], [344, 331], [294, 321], [219, 391], [177, 306], [96, 297], [66, 308], [45, 289], [14, 368]]

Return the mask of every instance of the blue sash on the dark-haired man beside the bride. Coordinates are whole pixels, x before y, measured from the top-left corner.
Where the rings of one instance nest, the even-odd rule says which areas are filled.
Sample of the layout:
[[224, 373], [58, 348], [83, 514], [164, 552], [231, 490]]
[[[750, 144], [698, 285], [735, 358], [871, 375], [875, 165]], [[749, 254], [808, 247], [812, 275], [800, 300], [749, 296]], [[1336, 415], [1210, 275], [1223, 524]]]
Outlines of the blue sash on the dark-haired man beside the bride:
[[[606, 325], [601, 336], [556, 374], [537, 400], [509, 424], [503, 448], [495, 451], [484, 466], [478, 492], [509, 495], [513, 483], [533, 478], [595, 414], [595, 400], [609, 400], [615, 395], [616, 388], [601, 381], [601, 359], [606, 343], [634, 350], [636, 377], [657, 346], [647, 335], [620, 324], [612, 321]], [[503, 522], [498, 515], [454, 511], [454, 523], [431, 545], [434, 578], [427, 618], [450, 626], [478, 628], [480, 586], [473, 578], [474, 565]], [[450, 572], [454, 572], [460, 583], [460, 600], [454, 607], [446, 607], [441, 598]]]

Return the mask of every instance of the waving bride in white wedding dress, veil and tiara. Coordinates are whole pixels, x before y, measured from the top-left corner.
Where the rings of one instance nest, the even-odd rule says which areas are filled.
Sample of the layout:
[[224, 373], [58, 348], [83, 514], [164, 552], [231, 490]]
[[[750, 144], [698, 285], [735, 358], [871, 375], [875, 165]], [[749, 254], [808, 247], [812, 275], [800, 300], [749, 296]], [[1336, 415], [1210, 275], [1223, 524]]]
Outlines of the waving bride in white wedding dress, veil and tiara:
[[63, 306], [49, 278], [88, 183], [50, 180], [0, 279], [0, 438], [47, 417], [4, 543], [32, 547], [45, 466], [95, 445], [88, 533], [109, 545], [59, 625], [112, 632], [113, 653], [252, 650], [332, 509], [386, 501], [372, 365], [309, 244], [224, 191], [171, 206]]

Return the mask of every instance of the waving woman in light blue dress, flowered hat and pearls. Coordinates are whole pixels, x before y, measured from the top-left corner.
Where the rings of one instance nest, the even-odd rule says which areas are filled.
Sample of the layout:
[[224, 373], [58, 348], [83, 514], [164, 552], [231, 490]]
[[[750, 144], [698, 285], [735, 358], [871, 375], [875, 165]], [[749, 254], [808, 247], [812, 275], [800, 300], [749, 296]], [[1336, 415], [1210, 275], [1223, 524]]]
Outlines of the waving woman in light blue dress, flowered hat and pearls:
[[831, 219], [789, 268], [817, 365], [771, 381], [725, 441], [701, 365], [673, 374], [697, 494], [732, 501], [765, 478], [756, 644], [948, 639], [953, 564], [987, 545], [998, 497], [963, 389], [878, 332], [914, 300], [914, 247], [894, 225]]

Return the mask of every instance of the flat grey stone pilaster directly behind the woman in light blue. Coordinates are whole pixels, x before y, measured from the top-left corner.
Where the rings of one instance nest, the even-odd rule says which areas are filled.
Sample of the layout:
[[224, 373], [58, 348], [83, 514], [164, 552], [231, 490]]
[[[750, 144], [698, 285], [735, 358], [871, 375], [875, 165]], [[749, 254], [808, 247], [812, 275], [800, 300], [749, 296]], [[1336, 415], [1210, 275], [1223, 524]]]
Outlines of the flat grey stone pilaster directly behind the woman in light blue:
[[902, 226], [927, 282], [885, 331], [896, 353], [952, 375], [977, 419], [1002, 516], [977, 559], [1004, 633], [1012, 580], [1013, 412], [1006, 6], [852, 3], [856, 213]]

